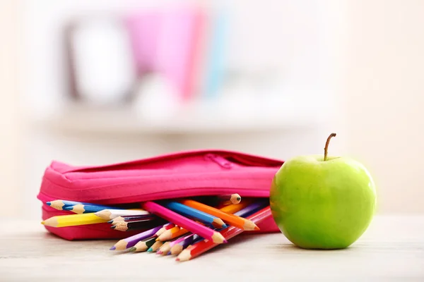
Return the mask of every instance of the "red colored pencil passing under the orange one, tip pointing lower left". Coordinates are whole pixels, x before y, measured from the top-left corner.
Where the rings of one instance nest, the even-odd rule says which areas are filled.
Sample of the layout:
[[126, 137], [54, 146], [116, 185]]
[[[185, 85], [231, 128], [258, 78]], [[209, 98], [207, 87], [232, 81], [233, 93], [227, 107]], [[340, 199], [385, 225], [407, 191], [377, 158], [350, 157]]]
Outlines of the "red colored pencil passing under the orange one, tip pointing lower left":
[[[264, 209], [259, 210], [259, 212], [256, 212], [252, 214], [251, 216], [248, 216], [247, 219], [254, 223], [260, 223], [264, 219], [269, 219], [272, 216], [271, 214], [271, 208], [265, 207]], [[235, 226], [230, 226], [228, 228], [225, 228], [223, 231], [220, 231], [220, 233], [225, 237], [226, 240], [230, 240], [236, 235], [239, 235], [244, 230], [237, 228]], [[194, 245], [190, 245], [185, 250], [183, 250], [177, 257], [177, 261], [179, 262], [185, 262], [189, 259], [193, 259], [194, 257], [198, 257], [199, 255], [203, 254], [204, 252], [211, 250], [211, 248], [216, 247], [216, 243], [213, 243], [211, 241], [202, 240], [199, 243], [196, 243]]]

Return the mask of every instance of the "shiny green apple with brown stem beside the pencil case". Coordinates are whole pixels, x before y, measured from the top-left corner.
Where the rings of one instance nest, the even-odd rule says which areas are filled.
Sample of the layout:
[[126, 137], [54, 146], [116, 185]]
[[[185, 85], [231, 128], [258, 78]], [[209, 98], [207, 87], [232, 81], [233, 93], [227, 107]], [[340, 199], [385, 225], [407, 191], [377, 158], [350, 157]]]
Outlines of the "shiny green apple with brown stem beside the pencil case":
[[354, 159], [300, 156], [273, 177], [270, 206], [278, 228], [298, 247], [342, 249], [365, 232], [376, 208], [375, 183]]

